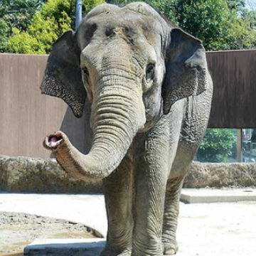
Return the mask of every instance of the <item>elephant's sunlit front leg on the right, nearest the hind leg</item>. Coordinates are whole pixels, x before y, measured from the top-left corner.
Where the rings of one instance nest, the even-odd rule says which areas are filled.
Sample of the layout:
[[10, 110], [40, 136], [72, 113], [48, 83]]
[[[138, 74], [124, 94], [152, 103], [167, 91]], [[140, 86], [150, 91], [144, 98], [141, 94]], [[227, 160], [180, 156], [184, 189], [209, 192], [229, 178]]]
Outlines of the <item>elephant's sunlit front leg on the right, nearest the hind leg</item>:
[[147, 140], [144, 143], [146, 148], [139, 149], [144, 153], [136, 159], [132, 247], [134, 256], [163, 255], [161, 231], [169, 160], [172, 156], [167, 144], [168, 139], [161, 141], [158, 139]]

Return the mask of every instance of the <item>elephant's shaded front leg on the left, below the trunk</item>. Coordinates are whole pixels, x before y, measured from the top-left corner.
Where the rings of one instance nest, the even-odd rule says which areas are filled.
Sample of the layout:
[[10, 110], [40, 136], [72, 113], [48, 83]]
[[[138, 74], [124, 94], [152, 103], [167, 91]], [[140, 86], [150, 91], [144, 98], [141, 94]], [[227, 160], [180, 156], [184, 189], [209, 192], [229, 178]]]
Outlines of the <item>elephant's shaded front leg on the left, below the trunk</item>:
[[103, 181], [107, 208], [107, 245], [101, 256], [128, 256], [132, 253], [132, 161], [125, 156]]

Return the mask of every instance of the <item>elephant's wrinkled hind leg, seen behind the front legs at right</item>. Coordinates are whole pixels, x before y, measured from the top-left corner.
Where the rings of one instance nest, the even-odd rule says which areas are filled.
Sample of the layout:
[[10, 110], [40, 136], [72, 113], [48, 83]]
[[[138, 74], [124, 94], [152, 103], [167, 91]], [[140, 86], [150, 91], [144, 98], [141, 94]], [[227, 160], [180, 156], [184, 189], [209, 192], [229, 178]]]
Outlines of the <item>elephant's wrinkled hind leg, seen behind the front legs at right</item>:
[[175, 255], [178, 251], [176, 230], [178, 223], [179, 199], [184, 177], [171, 178], [166, 185], [162, 244], [164, 255]]

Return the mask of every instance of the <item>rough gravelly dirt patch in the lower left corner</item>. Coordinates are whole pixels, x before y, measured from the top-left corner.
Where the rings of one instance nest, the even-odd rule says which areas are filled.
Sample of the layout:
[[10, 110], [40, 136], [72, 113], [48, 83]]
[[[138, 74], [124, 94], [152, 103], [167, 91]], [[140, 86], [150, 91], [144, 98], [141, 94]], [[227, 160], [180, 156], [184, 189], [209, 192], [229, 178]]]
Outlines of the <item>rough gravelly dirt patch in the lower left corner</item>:
[[0, 212], [0, 256], [23, 255], [36, 238], [95, 238], [94, 230], [68, 220], [26, 213]]

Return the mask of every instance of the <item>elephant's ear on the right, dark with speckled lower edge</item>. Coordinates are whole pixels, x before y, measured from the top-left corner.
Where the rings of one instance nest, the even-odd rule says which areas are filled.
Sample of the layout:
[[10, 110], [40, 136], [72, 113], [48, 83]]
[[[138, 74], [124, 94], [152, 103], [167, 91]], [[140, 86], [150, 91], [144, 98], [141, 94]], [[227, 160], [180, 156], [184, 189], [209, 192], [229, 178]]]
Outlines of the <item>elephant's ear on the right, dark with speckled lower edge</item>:
[[166, 76], [162, 86], [164, 114], [177, 100], [206, 90], [206, 52], [201, 41], [179, 28], [171, 31], [166, 51]]

